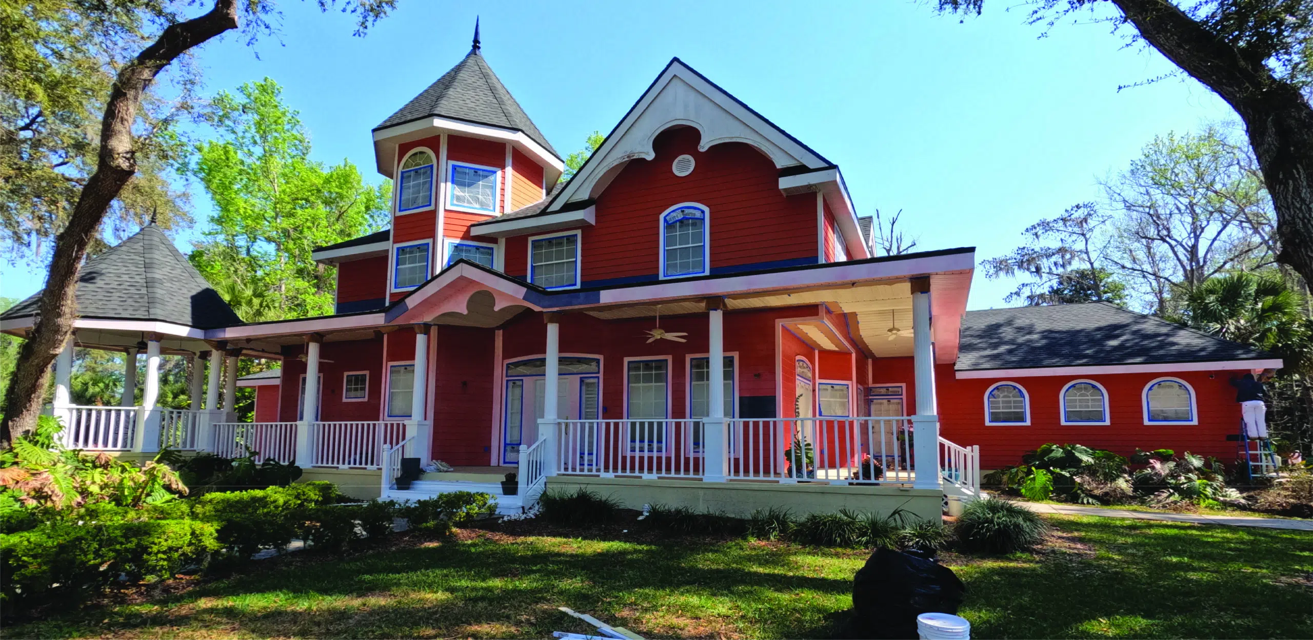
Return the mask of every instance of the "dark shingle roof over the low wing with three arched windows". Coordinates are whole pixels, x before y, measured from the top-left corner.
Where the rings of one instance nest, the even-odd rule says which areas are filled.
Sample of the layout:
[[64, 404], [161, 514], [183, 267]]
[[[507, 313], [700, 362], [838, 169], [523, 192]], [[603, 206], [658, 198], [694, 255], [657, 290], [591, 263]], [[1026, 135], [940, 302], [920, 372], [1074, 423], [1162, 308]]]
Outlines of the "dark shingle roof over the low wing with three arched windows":
[[1115, 304], [968, 311], [957, 371], [1271, 358]]

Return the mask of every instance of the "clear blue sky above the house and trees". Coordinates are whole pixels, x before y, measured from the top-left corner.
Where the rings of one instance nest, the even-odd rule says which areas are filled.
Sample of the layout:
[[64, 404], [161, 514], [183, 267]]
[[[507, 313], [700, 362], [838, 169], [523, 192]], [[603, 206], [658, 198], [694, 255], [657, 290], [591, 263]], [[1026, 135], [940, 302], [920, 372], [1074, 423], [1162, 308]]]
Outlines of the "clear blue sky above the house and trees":
[[[365, 38], [349, 17], [284, 1], [280, 38], [231, 34], [200, 51], [206, 90], [272, 77], [311, 132], [314, 156], [374, 173], [369, 131], [469, 51], [483, 55], [562, 156], [607, 132], [679, 56], [844, 172], [861, 215], [902, 210], [918, 249], [977, 247], [1098, 195], [1154, 135], [1232, 118], [1203, 85], [1109, 25], [1040, 38], [1003, 0], [962, 22], [928, 5], [861, 3], [436, 3], [403, 0]], [[280, 42], [281, 41], [281, 42]], [[196, 218], [209, 202], [193, 189]], [[190, 235], [177, 239], [189, 250]], [[43, 273], [0, 266], [0, 295]], [[979, 273], [970, 308], [1004, 306], [1010, 281]]]

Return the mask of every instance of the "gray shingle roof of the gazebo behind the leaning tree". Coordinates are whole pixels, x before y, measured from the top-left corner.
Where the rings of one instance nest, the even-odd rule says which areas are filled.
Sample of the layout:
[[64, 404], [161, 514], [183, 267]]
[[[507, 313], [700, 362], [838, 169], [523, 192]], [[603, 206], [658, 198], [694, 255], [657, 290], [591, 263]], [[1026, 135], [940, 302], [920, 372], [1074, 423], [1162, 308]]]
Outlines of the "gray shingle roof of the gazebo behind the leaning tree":
[[[87, 260], [77, 278], [77, 315], [117, 320], [160, 320], [197, 329], [240, 324], [228, 303], [155, 226], [143, 227]], [[14, 304], [0, 319], [37, 312], [41, 292]]]

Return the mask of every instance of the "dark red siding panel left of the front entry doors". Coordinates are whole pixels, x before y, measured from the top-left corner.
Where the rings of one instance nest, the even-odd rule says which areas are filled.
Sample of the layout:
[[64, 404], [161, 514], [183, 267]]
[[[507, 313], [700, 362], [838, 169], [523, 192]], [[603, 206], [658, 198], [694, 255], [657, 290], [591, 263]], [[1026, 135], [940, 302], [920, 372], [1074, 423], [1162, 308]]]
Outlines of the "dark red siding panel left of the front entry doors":
[[487, 464], [492, 422], [492, 329], [433, 327], [432, 456], [449, 464]]

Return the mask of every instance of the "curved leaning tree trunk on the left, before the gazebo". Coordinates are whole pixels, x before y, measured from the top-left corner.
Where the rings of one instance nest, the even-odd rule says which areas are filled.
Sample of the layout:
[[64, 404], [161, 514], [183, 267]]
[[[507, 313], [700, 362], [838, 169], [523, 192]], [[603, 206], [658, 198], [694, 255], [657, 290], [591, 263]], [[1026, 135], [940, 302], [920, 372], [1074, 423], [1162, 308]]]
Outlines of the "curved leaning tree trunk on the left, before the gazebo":
[[77, 197], [68, 226], [55, 239], [37, 323], [18, 351], [18, 362], [4, 399], [0, 447], [8, 447], [12, 438], [30, 433], [37, 425], [41, 397], [50, 378], [50, 363], [72, 333], [77, 313], [74, 294], [87, 245], [100, 228], [110, 203], [137, 173], [133, 123], [137, 121], [142, 94], [155, 76], [177, 56], [236, 26], [236, 0], [215, 0], [209, 13], [165, 28], [159, 39], [118, 72], [101, 121], [96, 172]]

